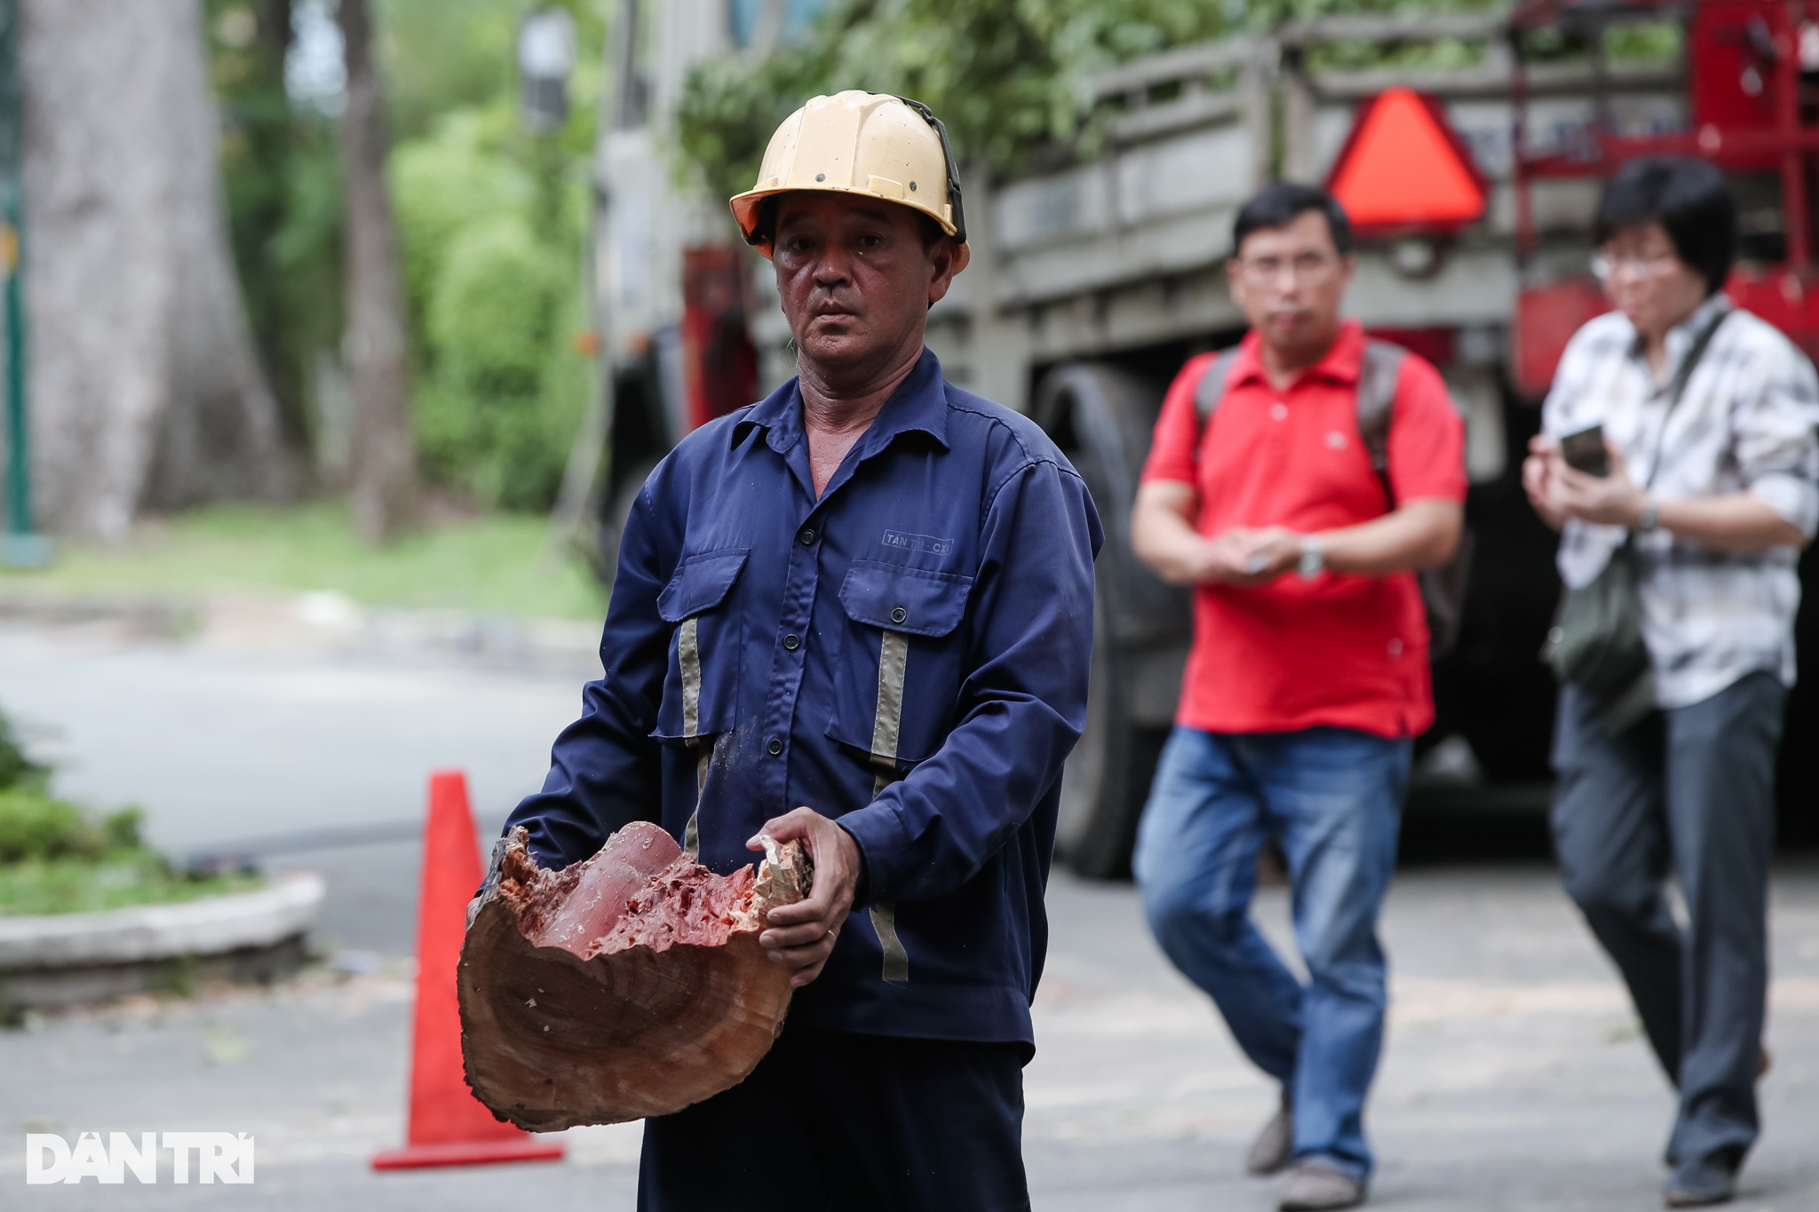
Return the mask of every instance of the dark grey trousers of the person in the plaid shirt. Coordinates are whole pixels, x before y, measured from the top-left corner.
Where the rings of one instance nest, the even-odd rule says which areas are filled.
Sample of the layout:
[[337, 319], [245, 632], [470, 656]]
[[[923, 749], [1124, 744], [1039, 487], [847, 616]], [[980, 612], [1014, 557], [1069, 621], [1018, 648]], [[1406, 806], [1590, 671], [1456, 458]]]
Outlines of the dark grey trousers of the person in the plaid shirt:
[[[1755, 672], [1610, 736], [1584, 694], [1561, 692], [1553, 847], [1681, 1092], [1668, 1161], [1737, 1163], [1755, 1141], [1784, 701]], [[1670, 859], [1684, 930], [1668, 912]]]

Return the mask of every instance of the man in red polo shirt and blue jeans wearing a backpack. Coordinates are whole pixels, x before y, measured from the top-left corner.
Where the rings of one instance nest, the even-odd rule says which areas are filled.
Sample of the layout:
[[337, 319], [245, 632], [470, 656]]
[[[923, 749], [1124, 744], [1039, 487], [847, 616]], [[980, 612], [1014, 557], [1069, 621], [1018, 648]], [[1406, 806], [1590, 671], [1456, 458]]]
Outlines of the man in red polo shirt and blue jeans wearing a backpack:
[[[1370, 1181], [1377, 910], [1412, 738], [1433, 721], [1413, 574], [1452, 556], [1466, 492], [1439, 373], [1339, 316], [1350, 247], [1324, 191], [1277, 184], [1244, 205], [1228, 276], [1250, 333], [1175, 378], [1131, 514], [1137, 554], [1195, 587], [1137, 883], [1162, 950], [1282, 1083], [1248, 1165], [1291, 1167], [1284, 1210], [1362, 1203]], [[1250, 919], [1266, 839], [1288, 859], [1306, 985]]]

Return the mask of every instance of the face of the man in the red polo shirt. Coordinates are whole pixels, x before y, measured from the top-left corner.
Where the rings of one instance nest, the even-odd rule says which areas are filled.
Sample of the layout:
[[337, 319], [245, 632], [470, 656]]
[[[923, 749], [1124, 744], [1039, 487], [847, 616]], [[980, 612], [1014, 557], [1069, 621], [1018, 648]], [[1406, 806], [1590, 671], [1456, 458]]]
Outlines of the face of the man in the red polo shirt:
[[1319, 211], [1244, 236], [1226, 274], [1231, 300], [1266, 345], [1301, 354], [1333, 342], [1352, 258], [1339, 254]]

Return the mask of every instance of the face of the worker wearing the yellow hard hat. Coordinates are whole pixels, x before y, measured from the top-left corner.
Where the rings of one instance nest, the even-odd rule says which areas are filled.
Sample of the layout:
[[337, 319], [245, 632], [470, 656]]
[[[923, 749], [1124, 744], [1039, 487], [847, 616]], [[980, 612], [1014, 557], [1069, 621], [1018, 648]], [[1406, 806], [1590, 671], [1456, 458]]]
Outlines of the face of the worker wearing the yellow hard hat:
[[771, 263], [799, 360], [853, 380], [922, 347], [928, 309], [953, 282], [955, 245], [922, 247], [910, 207], [851, 194], [784, 194]]

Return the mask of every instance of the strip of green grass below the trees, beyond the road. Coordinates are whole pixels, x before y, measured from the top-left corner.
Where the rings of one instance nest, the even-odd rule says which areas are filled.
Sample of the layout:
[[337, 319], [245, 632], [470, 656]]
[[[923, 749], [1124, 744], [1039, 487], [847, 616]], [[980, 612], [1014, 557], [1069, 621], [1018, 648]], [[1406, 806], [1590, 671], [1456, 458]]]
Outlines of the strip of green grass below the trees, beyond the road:
[[366, 547], [340, 503], [216, 505], [142, 522], [118, 547], [62, 545], [53, 567], [0, 572], [0, 591], [193, 596], [333, 589], [364, 605], [518, 618], [600, 620], [606, 598], [580, 560], [546, 560], [538, 516], [440, 522]]

